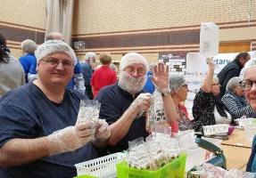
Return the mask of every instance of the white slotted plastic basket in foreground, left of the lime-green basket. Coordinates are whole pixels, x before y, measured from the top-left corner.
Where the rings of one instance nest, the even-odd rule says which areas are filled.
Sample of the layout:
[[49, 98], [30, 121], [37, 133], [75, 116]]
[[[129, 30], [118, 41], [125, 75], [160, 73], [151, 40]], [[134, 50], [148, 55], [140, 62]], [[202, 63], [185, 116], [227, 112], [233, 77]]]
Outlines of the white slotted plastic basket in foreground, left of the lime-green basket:
[[126, 153], [114, 153], [76, 164], [78, 175], [92, 175], [99, 178], [116, 177], [116, 164], [126, 158]]

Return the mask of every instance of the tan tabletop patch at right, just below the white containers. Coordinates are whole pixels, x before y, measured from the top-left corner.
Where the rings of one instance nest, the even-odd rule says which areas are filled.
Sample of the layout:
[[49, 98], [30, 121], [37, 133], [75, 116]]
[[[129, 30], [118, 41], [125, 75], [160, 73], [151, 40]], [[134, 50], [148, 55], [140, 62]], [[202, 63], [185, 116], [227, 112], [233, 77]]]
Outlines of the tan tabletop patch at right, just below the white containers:
[[236, 129], [228, 136], [228, 140], [221, 142], [222, 145], [252, 149], [252, 142], [244, 136], [244, 130]]

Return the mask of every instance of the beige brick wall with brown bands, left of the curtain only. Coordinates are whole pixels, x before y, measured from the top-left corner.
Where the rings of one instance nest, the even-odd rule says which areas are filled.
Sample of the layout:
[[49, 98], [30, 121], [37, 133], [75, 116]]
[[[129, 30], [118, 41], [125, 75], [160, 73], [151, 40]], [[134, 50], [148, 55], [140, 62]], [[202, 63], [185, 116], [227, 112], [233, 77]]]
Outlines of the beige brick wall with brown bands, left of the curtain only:
[[21, 56], [21, 42], [32, 39], [41, 44], [45, 37], [45, 0], [1, 0], [0, 33], [12, 55]]

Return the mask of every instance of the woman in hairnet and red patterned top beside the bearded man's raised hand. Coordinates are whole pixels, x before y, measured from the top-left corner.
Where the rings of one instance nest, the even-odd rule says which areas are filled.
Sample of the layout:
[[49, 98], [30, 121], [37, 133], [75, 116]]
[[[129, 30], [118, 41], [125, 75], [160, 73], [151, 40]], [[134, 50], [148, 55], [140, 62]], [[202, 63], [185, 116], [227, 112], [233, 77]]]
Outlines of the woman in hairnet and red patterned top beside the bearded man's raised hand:
[[177, 113], [178, 130], [186, 131], [193, 129], [193, 123], [188, 117], [186, 107], [181, 102], [186, 101], [188, 88], [186, 80], [181, 75], [171, 75], [169, 77], [169, 88], [172, 100]]

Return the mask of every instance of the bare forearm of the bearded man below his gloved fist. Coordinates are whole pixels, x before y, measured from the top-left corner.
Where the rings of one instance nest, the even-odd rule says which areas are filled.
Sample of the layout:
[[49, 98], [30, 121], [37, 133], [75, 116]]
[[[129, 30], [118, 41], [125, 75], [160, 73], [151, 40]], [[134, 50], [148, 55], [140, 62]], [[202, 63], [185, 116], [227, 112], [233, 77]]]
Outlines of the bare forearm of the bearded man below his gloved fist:
[[110, 145], [115, 145], [119, 142], [129, 130], [137, 112], [134, 109], [127, 109], [125, 113], [115, 123], [111, 124], [111, 137], [109, 139]]

